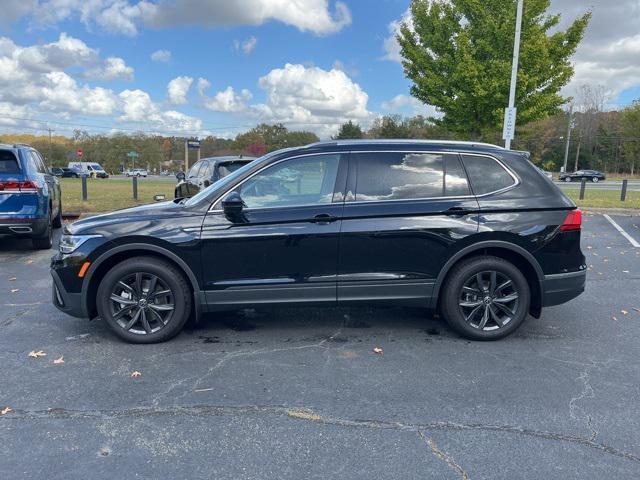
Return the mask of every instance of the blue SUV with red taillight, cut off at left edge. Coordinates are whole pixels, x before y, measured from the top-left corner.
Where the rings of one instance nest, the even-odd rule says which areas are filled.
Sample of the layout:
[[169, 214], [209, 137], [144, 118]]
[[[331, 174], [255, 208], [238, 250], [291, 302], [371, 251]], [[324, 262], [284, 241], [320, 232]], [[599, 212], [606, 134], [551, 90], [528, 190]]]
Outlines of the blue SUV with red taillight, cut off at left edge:
[[48, 249], [62, 226], [60, 182], [29, 145], [0, 144], [0, 235], [30, 237]]

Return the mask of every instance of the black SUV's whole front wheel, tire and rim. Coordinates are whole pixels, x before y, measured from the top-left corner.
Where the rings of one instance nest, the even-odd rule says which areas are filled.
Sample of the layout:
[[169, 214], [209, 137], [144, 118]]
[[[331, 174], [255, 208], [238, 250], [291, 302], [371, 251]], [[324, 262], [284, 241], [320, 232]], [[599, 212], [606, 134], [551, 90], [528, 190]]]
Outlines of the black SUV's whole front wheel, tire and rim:
[[[157, 280], [151, 287], [153, 277]], [[123, 283], [129, 288], [121, 287]], [[151, 288], [153, 291], [149, 292]], [[168, 293], [159, 296], [158, 292]], [[114, 295], [126, 303], [113, 300]], [[121, 339], [159, 343], [180, 333], [191, 314], [191, 299], [187, 280], [173, 265], [157, 258], [135, 257], [107, 272], [98, 287], [96, 305], [100, 318]], [[164, 302], [157, 303], [158, 300]], [[138, 317], [134, 318], [136, 314]]]

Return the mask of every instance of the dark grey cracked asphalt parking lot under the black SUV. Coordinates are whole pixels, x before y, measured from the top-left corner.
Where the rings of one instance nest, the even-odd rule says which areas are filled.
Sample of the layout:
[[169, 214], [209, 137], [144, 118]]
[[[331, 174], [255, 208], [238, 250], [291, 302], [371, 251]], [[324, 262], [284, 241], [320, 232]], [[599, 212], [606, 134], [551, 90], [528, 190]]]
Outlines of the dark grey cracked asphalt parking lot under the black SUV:
[[0, 240], [0, 477], [638, 478], [640, 248], [600, 214], [582, 247], [586, 293], [498, 342], [307, 308], [133, 346], [50, 304], [52, 252]]

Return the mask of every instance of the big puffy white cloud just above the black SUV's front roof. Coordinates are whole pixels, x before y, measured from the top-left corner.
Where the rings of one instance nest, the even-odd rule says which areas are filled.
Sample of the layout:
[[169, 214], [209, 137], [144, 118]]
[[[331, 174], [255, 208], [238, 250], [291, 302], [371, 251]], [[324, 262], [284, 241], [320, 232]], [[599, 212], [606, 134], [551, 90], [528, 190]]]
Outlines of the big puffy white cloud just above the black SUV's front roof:
[[347, 120], [372, 118], [367, 110], [369, 96], [340, 70], [286, 64], [260, 78], [259, 85], [267, 101], [254, 105], [252, 111], [262, 121], [329, 136]]

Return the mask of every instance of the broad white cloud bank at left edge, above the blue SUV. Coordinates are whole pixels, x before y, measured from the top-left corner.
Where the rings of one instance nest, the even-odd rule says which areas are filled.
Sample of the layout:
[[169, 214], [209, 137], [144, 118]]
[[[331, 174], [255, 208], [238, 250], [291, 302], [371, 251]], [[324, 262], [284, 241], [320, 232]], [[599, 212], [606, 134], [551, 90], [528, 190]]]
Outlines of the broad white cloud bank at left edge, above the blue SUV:
[[[0, 112], [6, 112], [0, 127], [42, 126], [18, 117], [72, 119], [83, 115], [117, 116], [118, 123], [133, 123], [157, 132], [202, 132], [201, 120], [174, 110], [163, 111], [147, 92], [136, 89], [117, 94], [81, 83], [66, 70], [78, 78], [102, 81], [133, 76], [133, 69], [121, 58], [101, 61], [97, 50], [65, 34], [51, 44], [29, 47], [0, 37]], [[184, 91], [184, 84], [182, 87]], [[174, 92], [174, 99], [179, 98], [179, 92]]]

